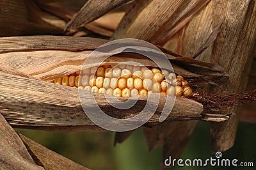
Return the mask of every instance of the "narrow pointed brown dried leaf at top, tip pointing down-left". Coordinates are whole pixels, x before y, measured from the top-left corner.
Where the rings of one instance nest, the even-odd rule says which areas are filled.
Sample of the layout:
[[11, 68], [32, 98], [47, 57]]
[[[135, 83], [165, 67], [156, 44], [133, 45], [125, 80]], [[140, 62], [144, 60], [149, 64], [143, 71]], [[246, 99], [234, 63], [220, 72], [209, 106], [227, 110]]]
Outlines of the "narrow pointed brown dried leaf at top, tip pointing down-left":
[[99, 1], [89, 0], [79, 10], [79, 12], [68, 22], [65, 30], [77, 28], [98, 19], [105, 13], [109, 12], [113, 8], [122, 6], [127, 3], [131, 3], [132, 0], [114, 0], [114, 1]]

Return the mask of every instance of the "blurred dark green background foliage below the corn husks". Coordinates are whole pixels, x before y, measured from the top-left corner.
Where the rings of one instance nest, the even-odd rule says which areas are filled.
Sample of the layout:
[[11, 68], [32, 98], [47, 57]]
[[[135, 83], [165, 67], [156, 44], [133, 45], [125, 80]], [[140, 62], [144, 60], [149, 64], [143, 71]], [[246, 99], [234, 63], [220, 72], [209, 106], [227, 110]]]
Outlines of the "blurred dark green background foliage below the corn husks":
[[[166, 129], [167, 130], [167, 129]], [[47, 148], [91, 169], [158, 169], [162, 162], [162, 148], [148, 151], [142, 130], [136, 130], [124, 143], [113, 147], [113, 132], [45, 132], [21, 130], [21, 134], [35, 140]], [[223, 152], [222, 158], [237, 158], [243, 162], [253, 162], [256, 166], [256, 124], [239, 123], [236, 144]], [[181, 158], [215, 158], [211, 153], [209, 123], [198, 124]], [[205, 167], [175, 167], [167, 169], [205, 169]], [[216, 167], [207, 167], [216, 169]], [[227, 167], [218, 167], [227, 169]], [[241, 169], [239, 167], [230, 169]], [[253, 169], [246, 167], [245, 169]]]

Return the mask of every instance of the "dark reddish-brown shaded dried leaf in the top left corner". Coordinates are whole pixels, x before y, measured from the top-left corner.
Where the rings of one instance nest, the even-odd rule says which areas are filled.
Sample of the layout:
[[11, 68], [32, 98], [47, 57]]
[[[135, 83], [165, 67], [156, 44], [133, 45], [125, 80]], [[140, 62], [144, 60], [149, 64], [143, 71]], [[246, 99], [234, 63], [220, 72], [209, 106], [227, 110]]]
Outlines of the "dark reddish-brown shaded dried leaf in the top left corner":
[[0, 2], [0, 36], [56, 35], [62, 30], [44, 22], [49, 14], [39, 10], [33, 1]]

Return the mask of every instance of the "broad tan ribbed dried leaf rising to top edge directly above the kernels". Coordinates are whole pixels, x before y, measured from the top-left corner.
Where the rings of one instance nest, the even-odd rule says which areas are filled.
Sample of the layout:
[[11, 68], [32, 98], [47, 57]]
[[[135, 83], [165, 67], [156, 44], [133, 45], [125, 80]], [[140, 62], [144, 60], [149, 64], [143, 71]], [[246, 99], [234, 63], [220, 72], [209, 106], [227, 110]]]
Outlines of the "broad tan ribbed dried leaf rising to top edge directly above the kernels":
[[111, 39], [138, 38], [163, 45], [208, 2], [136, 1], [127, 10]]

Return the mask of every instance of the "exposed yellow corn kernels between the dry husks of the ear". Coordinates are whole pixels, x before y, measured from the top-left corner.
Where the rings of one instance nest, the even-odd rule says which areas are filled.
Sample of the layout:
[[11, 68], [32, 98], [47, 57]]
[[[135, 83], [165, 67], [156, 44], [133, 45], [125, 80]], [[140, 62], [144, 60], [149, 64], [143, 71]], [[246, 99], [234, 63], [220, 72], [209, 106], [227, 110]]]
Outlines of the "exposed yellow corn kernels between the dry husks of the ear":
[[193, 91], [181, 75], [168, 70], [132, 65], [104, 65], [77, 71], [54, 79], [55, 84], [89, 90], [116, 97], [162, 93], [189, 97]]

